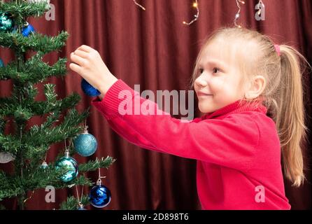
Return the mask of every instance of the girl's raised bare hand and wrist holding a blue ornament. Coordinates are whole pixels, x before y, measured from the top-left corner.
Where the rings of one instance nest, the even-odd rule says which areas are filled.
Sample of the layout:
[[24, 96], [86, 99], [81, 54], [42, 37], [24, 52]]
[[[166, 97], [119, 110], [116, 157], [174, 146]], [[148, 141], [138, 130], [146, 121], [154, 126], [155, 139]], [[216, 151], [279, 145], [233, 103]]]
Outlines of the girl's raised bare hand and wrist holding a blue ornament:
[[71, 62], [73, 63], [69, 64], [69, 68], [99, 90], [101, 97], [118, 81], [108, 70], [99, 52], [87, 45], [82, 45], [71, 53]]

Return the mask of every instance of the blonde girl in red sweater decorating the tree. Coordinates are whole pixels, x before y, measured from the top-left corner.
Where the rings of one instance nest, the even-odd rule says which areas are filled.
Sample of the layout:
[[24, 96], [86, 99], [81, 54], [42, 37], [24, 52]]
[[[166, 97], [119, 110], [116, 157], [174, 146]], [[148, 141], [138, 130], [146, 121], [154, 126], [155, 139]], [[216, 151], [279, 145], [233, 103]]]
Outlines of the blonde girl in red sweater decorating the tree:
[[[158, 113], [163, 111], [157, 104], [115, 78], [86, 45], [71, 53], [70, 68], [101, 92], [92, 104], [120, 136], [141, 148], [197, 160], [202, 209], [290, 209], [281, 160], [295, 186], [304, 181], [299, 59], [306, 62], [294, 48], [274, 45], [257, 31], [215, 31], [201, 48], [192, 76], [205, 116], [190, 123]], [[135, 102], [148, 103], [157, 113], [118, 111], [121, 103], [132, 111]]]

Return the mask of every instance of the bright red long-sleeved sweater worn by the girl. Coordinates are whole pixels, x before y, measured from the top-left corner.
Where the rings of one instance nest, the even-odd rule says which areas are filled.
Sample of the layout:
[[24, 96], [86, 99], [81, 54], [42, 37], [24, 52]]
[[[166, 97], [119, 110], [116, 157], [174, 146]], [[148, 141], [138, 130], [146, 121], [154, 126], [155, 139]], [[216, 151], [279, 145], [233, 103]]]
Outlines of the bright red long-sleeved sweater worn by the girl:
[[[121, 115], [118, 106], [149, 103], [155, 115]], [[148, 102], [147, 102], [148, 101]], [[190, 123], [159, 111], [118, 80], [94, 105], [127, 141], [152, 151], [197, 160], [197, 192], [202, 209], [290, 209], [285, 197], [281, 149], [265, 106], [234, 102]], [[158, 115], [157, 115], [158, 114]]]

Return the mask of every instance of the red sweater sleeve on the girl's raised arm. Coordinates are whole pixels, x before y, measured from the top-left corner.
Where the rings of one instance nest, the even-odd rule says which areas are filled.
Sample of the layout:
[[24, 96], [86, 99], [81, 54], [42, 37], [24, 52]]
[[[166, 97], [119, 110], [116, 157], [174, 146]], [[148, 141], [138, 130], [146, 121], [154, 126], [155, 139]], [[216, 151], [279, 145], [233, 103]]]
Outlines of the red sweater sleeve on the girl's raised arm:
[[[135, 107], [147, 104], [155, 113], [134, 113]], [[159, 110], [157, 104], [140, 97], [122, 80], [114, 83], [101, 102], [94, 100], [92, 105], [115, 132], [133, 144], [234, 169], [248, 169], [260, 138], [257, 125], [248, 114], [186, 123]]]

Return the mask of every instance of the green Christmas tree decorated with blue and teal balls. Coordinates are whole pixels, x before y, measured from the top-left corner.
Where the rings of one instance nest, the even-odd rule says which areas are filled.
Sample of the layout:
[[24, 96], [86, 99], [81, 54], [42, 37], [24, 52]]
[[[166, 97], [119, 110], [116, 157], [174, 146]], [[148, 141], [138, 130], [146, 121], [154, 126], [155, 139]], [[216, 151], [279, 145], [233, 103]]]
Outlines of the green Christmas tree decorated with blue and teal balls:
[[[46, 100], [35, 100], [38, 94], [35, 85], [43, 85], [41, 83], [52, 76], [66, 76], [66, 58], [49, 65], [43, 62], [43, 56], [61, 50], [69, 34], [66, 31], [57, 36], [38, 34], [27, 23], [27, 18], [42, 16], [49, 6], [48, 0], [0, 2], [0, 45], [15, 53], [15, 59], [6, 65], [0, 59], [0, 80], [13, 83], [11, 96], [0, 98], [0, 162], [12, 162], [14, 167], [10, 174], [0, 170], [0, 202], [16, 197], [19, 209], [27, 207], [27, 193], [46, 186], [55, 189], [93, 186], [94, 181], [83, 174], [108, 168], [114, 162], [107, 157], [78, 165], [71, 157], [77, 152], [89, 156], [97, 148], [96, 139], [81, 125], [89, 110], [79, 113], [75, 109], [80, 102], [78, 94], [58, 99], [55, 85], [48, 83], [44, 84]], [[30, 51], [34, 54], [27, 58], [26, 53]], [[44, 123], [28, 127], [29, 119], [34, 116], [45, 118]], [[14, 132], [5, 134], [9, 118], [13, 120]], [[64, 141], [68, 142], [67, 146], [60, 149], [55, 162], [47, 164], [45, 159], [50, 146]], [[71, 196], [60, 209], [78, 209], [78, 205], [83, 209], [83, 205], [90, 203], [101, 208], [110, 201], [110, 192], [101, 185], [99, 175], [90, 195]]]

